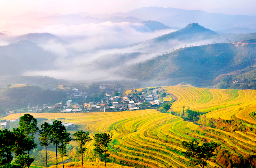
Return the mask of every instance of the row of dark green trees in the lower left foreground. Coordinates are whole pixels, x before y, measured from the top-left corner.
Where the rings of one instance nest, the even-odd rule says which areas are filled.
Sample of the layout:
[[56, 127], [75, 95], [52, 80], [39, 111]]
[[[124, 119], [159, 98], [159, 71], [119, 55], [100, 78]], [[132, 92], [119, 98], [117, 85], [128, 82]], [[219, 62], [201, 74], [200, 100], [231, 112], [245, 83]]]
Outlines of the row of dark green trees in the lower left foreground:
[[[85, 147], [88, 141], [92, 139], [89, 136], [89, 132], [83, 130], [74, 133], [74, 139], [70, 137], [70, 133], [66, 131], [66, 127], [61, 121], [55, 120], [52, 125], [44, 123], [41, 125], [41, 129], [37, 127], [37, 119], [30, 114], [24, 114], [20, 117], [19, 127], [13, 128], [12, 131], [7, 129], [0, 130], [0, 168], [29, 168], [31, 163], [35, 160], [34, 157], [29, 156], [29, 151], [37, 146], [35, 143], [35, 134], [39, 134], [40, 145], [44, 146], [46, 152], [46, 168], [47, 162], [47, 147], [49, 145], [55, 145], [56, 147], [56, 168], [58, 167], [57, 153], [62, 157], [62, 165], [64, 168], [64, 156], [67, 156], [67, 145], [70, 141], [75, 140], [79, 146], [79, 154], [82, 157], [83, 167], [83, 155], [87, 148]], [[105, 153], [105, 166], [107, 154], [107, 146], [111, 141], [111, 136], [107, 133], [94, 134], [94, 151], [98, 155]], [[15, 161], [13, 155], [15, 154]]]

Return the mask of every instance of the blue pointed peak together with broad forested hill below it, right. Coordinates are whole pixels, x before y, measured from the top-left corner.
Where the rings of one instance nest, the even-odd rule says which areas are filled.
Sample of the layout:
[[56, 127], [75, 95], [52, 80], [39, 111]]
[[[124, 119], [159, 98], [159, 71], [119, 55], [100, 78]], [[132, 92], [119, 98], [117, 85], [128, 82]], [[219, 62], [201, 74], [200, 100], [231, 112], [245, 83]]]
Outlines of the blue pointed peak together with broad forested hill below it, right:
[[[146, 55], [151, 53], [108, 54], [84, 66], [92, 71], [114, 69], [116, 70], [115, 74], [127, 79], [136, 79], [140, 81], [143, 87], [176, 85], [182, 82], [200, 87], [212, 87], [221, 80], [219, 78], [221, 75], [227, 76], [228, 74], [234, 74], [234, 72], [240, 74], [254, 69], [253, 67], [256, 65], [256, 33], [247, 34], [247, 37], [246, 34], [241, 35], [240, 37], [238, 35], [230, 36], [230, 38], [232, 40], [241, 37], [254, 39], [242, 40], [240, 44], [227, 41], [182, 47], [140, 62], [137, 60], [140, 60], [142, 56], [145, 58]], [[142, 43], [150, 43], [151, 47], [149, 48], [153, 48], [154, 45], [163, 45], [168, 43], [169, 40], [191, 42], [195, 39], [211, 38], [227, 38], [227, 35], [219, 35], [198, 23], [191, 23], [179, 31]], [[243, 45], [242, 43], [249, 43], [249, 45]], [[133, 46], [136, 45], [139, 46], [141, 43], [133, 44]], [[122, 65], [122, 67], [118, 68], [117, 65]], [[240, 73], [238, 73], [239, 70]]]

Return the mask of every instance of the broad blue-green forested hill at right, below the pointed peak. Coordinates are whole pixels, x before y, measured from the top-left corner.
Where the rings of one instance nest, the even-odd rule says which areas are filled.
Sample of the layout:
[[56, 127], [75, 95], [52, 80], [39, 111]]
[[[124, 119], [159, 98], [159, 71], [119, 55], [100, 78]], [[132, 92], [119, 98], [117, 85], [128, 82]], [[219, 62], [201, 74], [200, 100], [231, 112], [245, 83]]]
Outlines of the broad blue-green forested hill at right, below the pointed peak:
[[215, 77], [253, 66], [255, 60], [256, 45], [217, 43], [175, 50], [129, 66], [123, 75], [160, 85], [210, 86]]

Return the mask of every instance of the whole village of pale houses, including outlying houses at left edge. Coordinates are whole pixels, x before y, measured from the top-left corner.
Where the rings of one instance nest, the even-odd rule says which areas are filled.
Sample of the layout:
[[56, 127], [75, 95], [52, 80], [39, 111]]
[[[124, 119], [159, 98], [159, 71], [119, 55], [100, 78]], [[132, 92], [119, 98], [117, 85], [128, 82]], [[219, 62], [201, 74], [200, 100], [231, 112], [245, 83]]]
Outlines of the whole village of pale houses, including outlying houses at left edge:
[[[100, 87], [100, 89], [105, 89], [104, 87]], [[109, 90], [111, 92], [113, 90]], [[118, 89], [114, 90], [116, 92], [120, 91]], [[145, 108], [157, 108], [161, 106], [164, 102], [158, 100], [158, 92], [162, 91], [162, 89], [157, 88], [153, 90], [147, 90], [147, 92], [138, 92], [135, 90], [132, 93], [125, 94], [123, 96], [113, 96], [113, 94], [105, 93], [103, 98], [96, 102], [89, 103], [77, 103], [72, 100], [66, 101], [63, 103], [55, 103], [54, 105], [48, 106], [43, 104], [41, 107], [30, 107], [28, 106], [29, 111], [39, 113], [39, 112], [60, 112], [60, 113], [82, 113], [82, 112], [122, 112], [122, 111], [133, 111], [133, 110], [141, 110]], [[85, 92], [79, 91], [77, 88], [73, 88], [72, 92], [67, 94], [69, 99], [74, 98], [82, 98], [86, 100], [88, 94]], [[10, 111], [10, 113], [13, 113]], [[16, 122], [15, 122], [16, 121]], [[16, 120], [7, 120], [0, 122], [0, 129], [7, 128], [10, 123], [18, 123], [19, 118]], [[52, 121], [48, 122], [52, 125]], [[74, 123], [63, 123], [66, 129], [76, 129], [76, 125]]]

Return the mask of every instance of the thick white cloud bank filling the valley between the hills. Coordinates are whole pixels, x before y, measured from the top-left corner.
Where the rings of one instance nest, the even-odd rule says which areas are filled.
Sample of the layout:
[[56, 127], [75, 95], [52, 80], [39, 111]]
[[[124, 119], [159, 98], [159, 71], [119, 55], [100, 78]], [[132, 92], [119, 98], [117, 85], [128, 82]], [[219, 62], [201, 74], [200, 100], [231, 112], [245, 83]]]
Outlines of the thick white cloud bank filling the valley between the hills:
[[[143, 23], [90, 23], [78, 25], [22, 25], [21, 28], [15, 23], [5, 23], [6, 29], [11, 35], [25, 33], [51, 33], [61, 40], [38, 40], [38, 45], [43, 49], [56, 55], [53, 60], [54, 67], [51, 70], [32, 70], [25, 72], [29, 76], [50, 76], [58, 79], [71, 80], [118, 80], [122, 76], [113, 75], [123, 65], [138, 63], [143, 60], [158, 56], [159, 52], [151, 52], [149, 44], [140, 43], [175, 30], [150, 31]], [[8, 26], [9, 27], [8, 27]], [[15, 32], [15, 33], [13, 33]], [[63, 42], [64, 41], [64, 42]], [[88, 66], [96, 59], [107, 56], [107, 54], [125, 54], [142, 52], [138, 58], [130, 59], [122, 65], [112, 66], [109, 69], [96, 69]], [[108, 58], [104, 58], [108, 59]], [[111, 60], [110, 60], [111, 61]]]

